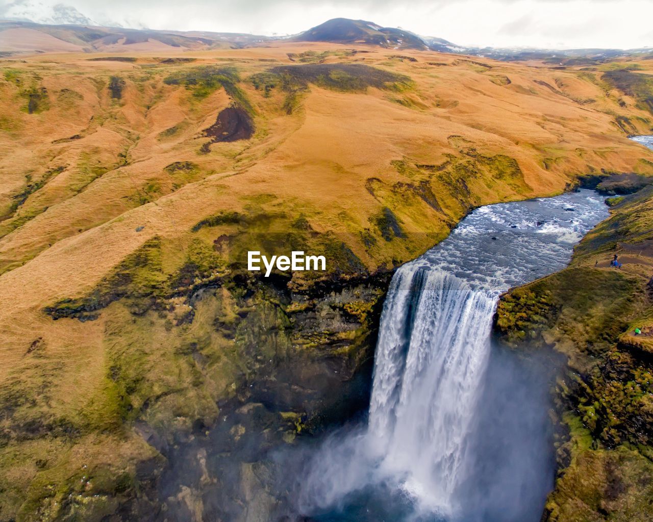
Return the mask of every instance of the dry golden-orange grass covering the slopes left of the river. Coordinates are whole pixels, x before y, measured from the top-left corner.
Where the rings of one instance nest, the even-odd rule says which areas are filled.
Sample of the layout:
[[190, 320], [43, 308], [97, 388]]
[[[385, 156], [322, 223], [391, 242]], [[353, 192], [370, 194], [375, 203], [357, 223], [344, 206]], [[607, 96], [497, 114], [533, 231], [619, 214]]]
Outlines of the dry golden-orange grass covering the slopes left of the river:
[[[653, 175], [653, 153], [616, 123], [627, 117], [645, 134], [653, 116], [606, 92], [600, 72], [474, 59], [489, 66], [480, 67], [429, 52], [402, 51], [417, 61], [398, 61], [390, 59], [392, 50], [353, 54], [343, 52], [351, 46], [303, 43], [185, 52], [197, 61], [163, 65], [159, 59], [174, 50], [130, 47], [133, 63], [88, 61], [87, 54], [0, 61], [0, 388], [24, 383], [20, 390], [39, 395], [42, 384], [48, 403], [37, 401], [35, 411], [48, 415], [76, 419], [118, 400], [106, 388], [111, 343], [146, 343], [150, 334], [142, 337], [143, 331], [150, 341], [172, 342], [163, 320], [126, 328], [131, 318], [121, 307], [84, 323], [54, 321], [43, 311], [87, 294], [148, 239], [161, 238], [168, 275], [193, 238], [210, 244], [220, 234], [244, 232], [237, 224], [191, 232], [208, 216], [264, 215], [272, 218], [250, 223], [251, 231], [285, 232], [302, 215], [316, 232], [342, 234], [374, 270], [425, 251], [472, 206], [560, 193], [601, 170]], [[413, 85], [365, 93], [309, 85], [289, 115], [281, 87], [266, 97], [247, 82], [291, 63], [288, 53], [307, 50], [327, 52], [327, 64], [359, 62], [406, 75]], [[238, 70], [256, 131], [251, 140], [212, 144], [203, 153], [202, 131], [231, 100], [221, 89], [200, 98], [163, 80], [216, 63]], [[112, 76], [125, 82], [118, 99], [108, 90]], [[40, 87], [49, 108], [29, 114], [25, 89]], [[195, 166], [166, 169], [175, 162]], [[46, 176], [51, 170], [57, 174]], [[437, 205], [420, 192], [426, 187]], [[18, 194], [27, 194], [20, 204]], [[383, 239], [378, 224], [385, 209], [405, 240]], [[362, 232], [375, 244], [366, 245]], [[117, 340], [116, 328], [123, 332]], [[38, 358], [28, 353], [35, 341], [42, 346]], [[228, 343], [215, 346], [229, 350]], [[149, 361], [148, 378], [172, 378], [165, 356], [152, 352]], [[224, 382], [215, 384], [212, 398], [238, 375], [234, 363], [221, 364], [216, 379]], [[201, 397], [202, 404], [211, 397]]]

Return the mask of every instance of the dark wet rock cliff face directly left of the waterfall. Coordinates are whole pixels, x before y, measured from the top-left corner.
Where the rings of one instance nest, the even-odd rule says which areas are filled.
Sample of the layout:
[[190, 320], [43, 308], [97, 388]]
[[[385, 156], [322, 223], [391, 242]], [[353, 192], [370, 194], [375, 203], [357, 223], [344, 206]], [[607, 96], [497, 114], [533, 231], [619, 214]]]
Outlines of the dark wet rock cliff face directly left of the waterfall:
[[[289, 511], [279, 484], [288, 470], [275, 455], [368, 406], [389, 280], [332, 281], [315, 295], [290, 292], [284, 279], [240, 281], [231, 328], [243, 380], [217, 403], [217, 419], [197, 419], [192, 431], [161, 433], [138, 423], [167, 465], [125, 512], [155, 521], [283, 519]], [[211, 299], [213, 291], [197, 299]]]

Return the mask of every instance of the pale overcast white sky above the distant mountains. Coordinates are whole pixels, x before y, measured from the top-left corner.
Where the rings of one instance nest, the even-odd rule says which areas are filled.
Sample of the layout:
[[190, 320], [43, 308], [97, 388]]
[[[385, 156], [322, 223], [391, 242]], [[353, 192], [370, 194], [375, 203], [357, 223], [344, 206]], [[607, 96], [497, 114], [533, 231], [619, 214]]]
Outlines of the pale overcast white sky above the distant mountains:
[[290, 35], [344, 17], [464, 46], [653, 46], [653, 0], [0, 0], [0, 17], [48, 22], [61, 3], [138, 29]]

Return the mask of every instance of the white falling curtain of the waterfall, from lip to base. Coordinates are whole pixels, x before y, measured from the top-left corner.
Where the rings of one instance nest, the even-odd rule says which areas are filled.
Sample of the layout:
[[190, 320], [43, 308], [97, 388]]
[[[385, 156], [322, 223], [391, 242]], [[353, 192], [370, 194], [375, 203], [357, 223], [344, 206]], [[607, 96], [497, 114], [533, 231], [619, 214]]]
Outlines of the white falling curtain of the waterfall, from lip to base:
[[410, 264], [383, 310], [368, 434], [385, 455], [381, 469], [443, 512], [460, 480], [495, 304], [485, 288]]

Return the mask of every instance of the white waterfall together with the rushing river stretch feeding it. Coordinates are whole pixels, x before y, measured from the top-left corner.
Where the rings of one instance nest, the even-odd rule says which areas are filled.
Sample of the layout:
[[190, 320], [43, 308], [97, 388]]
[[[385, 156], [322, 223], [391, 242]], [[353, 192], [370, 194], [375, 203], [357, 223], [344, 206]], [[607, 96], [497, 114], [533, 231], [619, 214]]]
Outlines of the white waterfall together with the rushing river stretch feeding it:
[[468, 453], [486, 406], [498, 296], [564, 268], [606, 216], [592, 191], [481, 207], [398, 269], [381, 316], [368, 425], [325, 441], [302, 486], [304, 511], [346, 510], [353, 492], [382, 485], [426, 519], [456, 519], [478, 461]]

